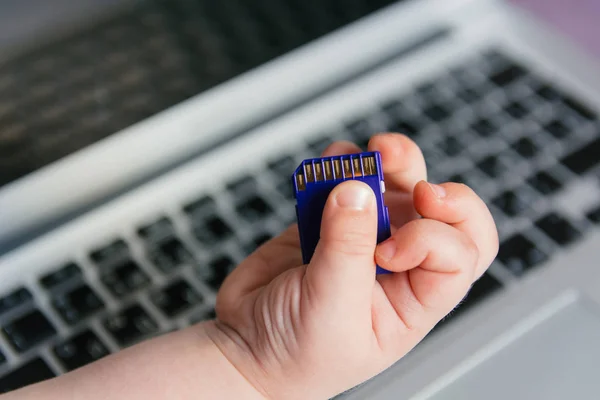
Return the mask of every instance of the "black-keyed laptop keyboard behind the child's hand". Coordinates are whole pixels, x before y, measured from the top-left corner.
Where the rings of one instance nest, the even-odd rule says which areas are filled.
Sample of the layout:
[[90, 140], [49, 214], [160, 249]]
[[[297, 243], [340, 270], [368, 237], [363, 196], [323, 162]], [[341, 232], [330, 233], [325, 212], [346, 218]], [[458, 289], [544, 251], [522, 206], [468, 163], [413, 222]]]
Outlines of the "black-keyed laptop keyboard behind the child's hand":
[[[497, 52], [474, 58], [374, 112], [342, 121], [303, 152], [265, 160], [258, 175], [182, 205], [189, 229], [166, 216], [139, 227], [136, 243], [114, 238], [39, 278], [49, 307], [26, 288], [0, 298], [0, 392], [72, 370], [140, 340], [214, 318], [214, 296], [245, 256], [293, 222], [289, 176], [333, 140], [363, 147], [378, 131], [401, 131], [423, 149], [432, 181], [471, 185], [490, 205], [501, 246], [495, 268], [515, 279], [540, 268], [600, 221], [561, 213], [553, 198], [600, 163], [600, 121]], [[141, 246], [139, 244], [142, 244]], [[98, 277], [97, 279], [90, 279]], [[436, 329], [468, 312], [504, 280], [487, 272]], [[68, 337], [58, 337], [69, 326]], [[443, 334], [443, 333], [442, 333]], [[9, 362], [7, 362], [10, 361]], [[10, 364], [10, 365], [9, 365]]]

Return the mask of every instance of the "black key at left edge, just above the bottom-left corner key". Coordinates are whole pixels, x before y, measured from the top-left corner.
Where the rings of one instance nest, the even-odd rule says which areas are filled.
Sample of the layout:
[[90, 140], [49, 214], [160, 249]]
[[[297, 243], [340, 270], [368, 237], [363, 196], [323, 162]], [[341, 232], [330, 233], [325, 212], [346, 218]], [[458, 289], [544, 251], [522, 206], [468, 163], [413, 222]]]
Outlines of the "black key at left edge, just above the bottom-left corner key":
[[10, 344], [23, 353], [56, 334], [54, 326], [38, 310], [30, 311], [2, 328]]

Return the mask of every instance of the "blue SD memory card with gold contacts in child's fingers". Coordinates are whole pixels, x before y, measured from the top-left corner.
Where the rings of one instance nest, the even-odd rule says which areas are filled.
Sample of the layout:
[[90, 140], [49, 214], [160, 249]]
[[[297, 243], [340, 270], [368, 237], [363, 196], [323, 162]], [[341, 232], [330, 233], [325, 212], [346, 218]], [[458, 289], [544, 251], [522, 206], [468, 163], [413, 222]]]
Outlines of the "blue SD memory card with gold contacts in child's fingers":
[[[323, 208], [333, 188], [349, 179], [369, 185], [377, 199], [377, 243], [390, 237], [390, 218], [383, 193], [383, 169], [379, 152], [365, 152], [302, 161], [292, 175], [300, 245], [305, 264], [310, 262], [321, 232]], [[377, 273], [389, 273], [377, 267]]]

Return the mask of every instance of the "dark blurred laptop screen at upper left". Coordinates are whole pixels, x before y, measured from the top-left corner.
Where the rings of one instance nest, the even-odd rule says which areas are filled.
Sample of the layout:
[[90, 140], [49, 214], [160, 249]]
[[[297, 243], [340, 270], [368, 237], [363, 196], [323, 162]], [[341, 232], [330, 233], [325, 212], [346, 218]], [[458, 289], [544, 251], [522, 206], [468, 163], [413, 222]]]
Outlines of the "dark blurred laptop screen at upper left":
[[3, 2], [0, 187], [394, 2]]

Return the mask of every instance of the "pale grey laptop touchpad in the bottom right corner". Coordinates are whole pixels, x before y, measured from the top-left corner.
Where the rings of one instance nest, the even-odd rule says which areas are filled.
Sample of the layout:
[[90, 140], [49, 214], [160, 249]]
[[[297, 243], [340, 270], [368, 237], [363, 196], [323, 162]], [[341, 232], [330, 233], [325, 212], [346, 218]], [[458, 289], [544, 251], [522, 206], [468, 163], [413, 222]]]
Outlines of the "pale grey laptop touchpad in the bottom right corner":
[[494, 346], [429, 398], [562, 400], [600, 393], [596, 304], [574, 300], [522, 331], [507, 334], [504, 346]]

